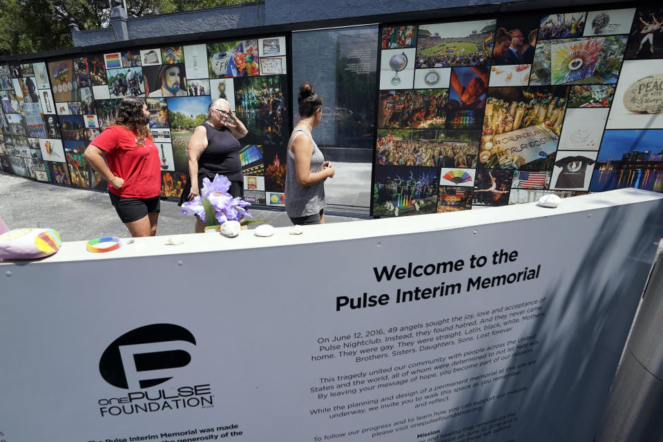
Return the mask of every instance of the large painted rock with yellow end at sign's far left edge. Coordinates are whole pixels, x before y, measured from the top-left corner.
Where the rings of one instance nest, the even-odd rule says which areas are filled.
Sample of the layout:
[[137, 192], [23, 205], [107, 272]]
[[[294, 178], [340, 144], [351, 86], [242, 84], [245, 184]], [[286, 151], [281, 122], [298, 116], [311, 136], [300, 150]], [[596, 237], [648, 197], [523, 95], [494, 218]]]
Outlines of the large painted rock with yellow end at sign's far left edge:
[[61, 244], [53, 229], [14, 229], [0, 235], [0, 259], [43, 258], [57, 252]]

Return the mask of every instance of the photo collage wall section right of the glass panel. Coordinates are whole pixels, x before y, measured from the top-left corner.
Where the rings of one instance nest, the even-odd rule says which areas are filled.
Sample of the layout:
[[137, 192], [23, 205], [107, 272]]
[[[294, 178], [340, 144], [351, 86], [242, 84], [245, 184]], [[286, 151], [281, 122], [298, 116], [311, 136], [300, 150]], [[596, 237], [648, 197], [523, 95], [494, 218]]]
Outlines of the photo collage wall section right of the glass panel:
[[380, 32], [372, 215], [663, 191], [663, 7]]

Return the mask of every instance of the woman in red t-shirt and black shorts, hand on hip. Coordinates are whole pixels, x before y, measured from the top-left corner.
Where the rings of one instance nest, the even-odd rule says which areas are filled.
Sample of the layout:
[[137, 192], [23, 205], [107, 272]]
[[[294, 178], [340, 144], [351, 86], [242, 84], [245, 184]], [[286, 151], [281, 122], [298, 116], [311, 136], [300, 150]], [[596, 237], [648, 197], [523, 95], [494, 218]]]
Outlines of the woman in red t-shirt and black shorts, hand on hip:
[[85, 150], [86, 160], [108, 181], [111, 203], [133, 237], [155, 236], [160, 211], [161, 162], [149, 121], [145, 102], [125, 97], [115, 122]]

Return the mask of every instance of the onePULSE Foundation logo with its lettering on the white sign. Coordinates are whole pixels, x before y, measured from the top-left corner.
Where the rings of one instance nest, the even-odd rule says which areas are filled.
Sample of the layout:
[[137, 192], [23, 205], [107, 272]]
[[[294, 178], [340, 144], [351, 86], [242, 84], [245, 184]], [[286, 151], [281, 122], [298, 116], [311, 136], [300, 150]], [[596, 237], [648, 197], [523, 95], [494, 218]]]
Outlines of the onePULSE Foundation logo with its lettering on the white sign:
[[102, 416], [191, 407], [213, 407], [209, 383], [151, 389], [181, 374], [191, 363], [195, 337], [174, 324], [151, 324], [119, 336], [99, 359], [104, 380], [128, 392], [97, 401]]

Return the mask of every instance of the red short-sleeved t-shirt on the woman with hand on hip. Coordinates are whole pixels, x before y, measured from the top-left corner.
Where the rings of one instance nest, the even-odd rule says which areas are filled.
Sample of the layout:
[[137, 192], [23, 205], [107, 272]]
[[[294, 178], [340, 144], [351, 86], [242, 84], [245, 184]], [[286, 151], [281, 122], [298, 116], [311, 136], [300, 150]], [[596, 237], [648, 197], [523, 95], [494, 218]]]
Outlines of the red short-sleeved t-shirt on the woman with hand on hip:
[[122, 198], [154, 198], [161, 186], [161, 161], [157, 146], [122, 126], [109, 126], [90, 143], [106, 152], [108, 169], [124, 180], [122, 189], [108, 183], [108, 191]]

